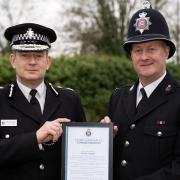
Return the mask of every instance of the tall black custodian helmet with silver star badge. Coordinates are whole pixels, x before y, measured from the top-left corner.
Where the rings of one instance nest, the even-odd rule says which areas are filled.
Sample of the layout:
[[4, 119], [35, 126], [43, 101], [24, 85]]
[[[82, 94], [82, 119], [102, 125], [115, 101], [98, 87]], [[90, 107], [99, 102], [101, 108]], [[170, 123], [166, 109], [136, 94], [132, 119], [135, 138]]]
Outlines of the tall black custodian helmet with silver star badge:
[[141, 43], [153, 40], [162, 40], [170, 47], [169, 57], [176, 51], [170, 39], [169, 28], [163, 15], [150, 7], [148, 1], [144, 2], [144, 9], [137, 11], [131, 18], [124, 43], [125, 51], [130, 54], [132, 43]]

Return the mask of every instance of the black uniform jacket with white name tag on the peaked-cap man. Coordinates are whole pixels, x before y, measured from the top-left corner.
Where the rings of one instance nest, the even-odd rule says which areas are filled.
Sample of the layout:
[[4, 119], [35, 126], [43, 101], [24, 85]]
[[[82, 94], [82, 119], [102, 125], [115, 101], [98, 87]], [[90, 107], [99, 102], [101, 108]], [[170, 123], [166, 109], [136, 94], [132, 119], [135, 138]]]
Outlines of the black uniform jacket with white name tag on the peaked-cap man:
[[[85, 121], [77, 93], [47, 84], [44, 113], [39, 123], [16, 83], [14, 87], [0, 90], [0, 179], [61, 179], [61, 140], [52, 146], [43, 145], [44, 150], [40, 150], [36, 139], [40, 126], [56, 118]], [[17, 126], [3, 126], [2, 120], [17, 120]]]

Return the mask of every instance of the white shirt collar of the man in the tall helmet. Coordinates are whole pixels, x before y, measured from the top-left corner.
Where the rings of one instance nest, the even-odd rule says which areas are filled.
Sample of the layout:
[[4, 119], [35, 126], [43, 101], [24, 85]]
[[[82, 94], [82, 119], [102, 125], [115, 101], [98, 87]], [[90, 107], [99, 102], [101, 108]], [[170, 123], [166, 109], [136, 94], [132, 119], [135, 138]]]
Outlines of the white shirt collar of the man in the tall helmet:
[[[159, 83], [164, 79], [166, 76], [167, 72], [165, 73], [156, 81], [152, 82], [151, 84], [148, 84], [147, 86], [144, 87], [144, 90], [146, 91], [146, 95], [149, 98], [152, 92], [156, 89], [156, 87], [159, 85]], [[142, 94], [140, 92], [140, 89], [143, 88], [143, 85], [141, 82], [139, 82], [138, 87], [137, 87], [137, 98], [136, 98], [136, 105], [139, 103], [139, 101], [142, 98]]]

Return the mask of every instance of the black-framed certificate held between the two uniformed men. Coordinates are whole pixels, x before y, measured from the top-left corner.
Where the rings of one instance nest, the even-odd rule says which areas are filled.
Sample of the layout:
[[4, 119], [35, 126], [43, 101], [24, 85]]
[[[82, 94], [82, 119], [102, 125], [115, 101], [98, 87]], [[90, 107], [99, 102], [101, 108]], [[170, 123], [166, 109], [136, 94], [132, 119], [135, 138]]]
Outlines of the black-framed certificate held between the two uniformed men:
[[112, 161], [112, 124], [63, 124], [61, 180], [112, 180]]

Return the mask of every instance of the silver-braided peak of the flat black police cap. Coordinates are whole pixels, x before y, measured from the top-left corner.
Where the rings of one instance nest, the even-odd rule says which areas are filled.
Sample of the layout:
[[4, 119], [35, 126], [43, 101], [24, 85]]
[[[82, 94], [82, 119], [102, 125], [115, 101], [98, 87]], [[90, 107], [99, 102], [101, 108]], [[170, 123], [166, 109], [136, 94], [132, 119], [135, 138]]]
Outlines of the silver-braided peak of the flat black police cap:
[[44, 51], [49, 49], [49, 46], [42, 44], [16, 44], [12, 45], [11, 49], [14, 51]]

